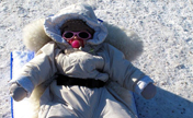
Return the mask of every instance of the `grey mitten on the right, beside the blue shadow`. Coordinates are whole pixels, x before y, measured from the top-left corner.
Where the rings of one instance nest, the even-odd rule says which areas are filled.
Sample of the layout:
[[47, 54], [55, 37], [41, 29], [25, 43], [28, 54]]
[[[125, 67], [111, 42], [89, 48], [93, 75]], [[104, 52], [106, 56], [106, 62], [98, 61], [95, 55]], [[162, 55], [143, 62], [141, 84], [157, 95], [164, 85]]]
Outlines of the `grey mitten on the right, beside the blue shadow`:
[[149, 83], [141, 92], [141, 95], [144, 98], [150, 99], [156, 95], [156, 86], [152, 83]]

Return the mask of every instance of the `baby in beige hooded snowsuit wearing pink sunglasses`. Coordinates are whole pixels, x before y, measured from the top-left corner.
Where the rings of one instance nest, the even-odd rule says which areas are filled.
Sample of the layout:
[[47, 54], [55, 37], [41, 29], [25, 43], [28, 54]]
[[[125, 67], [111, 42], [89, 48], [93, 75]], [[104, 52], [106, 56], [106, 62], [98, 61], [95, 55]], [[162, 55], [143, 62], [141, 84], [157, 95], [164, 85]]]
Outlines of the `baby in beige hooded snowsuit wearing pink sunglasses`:
[[41, 97], [39, 118], [128, 118], [129, 108], [107, 81], [149, 99], [156, 94], [152, 80], [135, 68], [113, 46], [103, 43], [107, 31], [91, 7], [67, 7], [45, 20], [44, 30], [53, 40], [44, 45], [12, 82], [15, 101], [59, 73]]

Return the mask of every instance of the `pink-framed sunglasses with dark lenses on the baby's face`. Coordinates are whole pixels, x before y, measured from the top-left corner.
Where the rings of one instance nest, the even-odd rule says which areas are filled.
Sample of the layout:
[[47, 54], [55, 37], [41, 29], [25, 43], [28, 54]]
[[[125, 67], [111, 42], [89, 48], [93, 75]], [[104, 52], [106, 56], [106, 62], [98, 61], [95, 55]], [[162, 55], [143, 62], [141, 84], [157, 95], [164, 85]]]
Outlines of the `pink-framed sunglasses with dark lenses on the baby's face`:
[[73, 38], [75, 36], [77, 36], [80, 39], [89, 39], [89, 38], [92, 37], [91, 34], [89, 32], [87, 32], [87, 31], [81, 31], [81, 32], [66, 31], [63, 34], [63, 38], [68, 39], [68, 40]]

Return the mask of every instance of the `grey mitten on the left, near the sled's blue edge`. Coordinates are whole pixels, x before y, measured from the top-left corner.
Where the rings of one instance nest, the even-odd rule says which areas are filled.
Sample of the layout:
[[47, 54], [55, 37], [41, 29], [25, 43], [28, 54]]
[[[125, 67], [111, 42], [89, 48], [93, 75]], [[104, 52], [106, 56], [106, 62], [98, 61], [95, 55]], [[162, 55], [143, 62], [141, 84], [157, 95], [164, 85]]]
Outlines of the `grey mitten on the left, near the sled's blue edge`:
[[12, 98], [16, 102], [22, 101], [24, 97], [26, 97], [27, 93], [26, 91], [20, 86], [18, 83], [13, 83], [10, 87], [10, 95]]

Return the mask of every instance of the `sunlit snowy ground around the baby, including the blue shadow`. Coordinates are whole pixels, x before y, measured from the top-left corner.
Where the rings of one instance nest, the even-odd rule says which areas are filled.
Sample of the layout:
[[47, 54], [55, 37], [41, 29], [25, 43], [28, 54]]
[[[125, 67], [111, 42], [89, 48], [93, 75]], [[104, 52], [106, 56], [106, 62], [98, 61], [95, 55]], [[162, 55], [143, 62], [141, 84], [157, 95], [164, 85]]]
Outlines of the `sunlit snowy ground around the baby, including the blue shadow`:
[[78, 1], [143, 38], [144, 54], [133, 63], [155, 80], [158, 93], [150, 101], [135, 96], [139, 118], [192, 118], [193, 0], [0, 0], [0, 118], [11, 118], [10, 52], [25, 50], [23, 26]]

